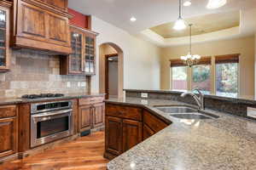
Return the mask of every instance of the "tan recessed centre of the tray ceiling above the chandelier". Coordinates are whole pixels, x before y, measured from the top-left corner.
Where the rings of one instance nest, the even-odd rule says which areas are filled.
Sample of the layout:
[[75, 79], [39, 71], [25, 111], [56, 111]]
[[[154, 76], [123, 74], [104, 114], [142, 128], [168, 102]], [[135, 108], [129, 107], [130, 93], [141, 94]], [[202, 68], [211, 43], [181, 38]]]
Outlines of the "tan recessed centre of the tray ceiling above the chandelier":
[[[228, 13], [206, 14], [185, 19], [187, 24], [193, 24], [192, 36], [201, 35], [213, 31], [221, 31], [235, 26], [240, 23], [240, 11], [231, 11]], [[189, 27], [183, 31], [173, 30], [175, 22], [168, 22], [160, 26], [150, 28], [151, 31], [159, 34], [164, 38], [186, 37], [189, 36]]]

